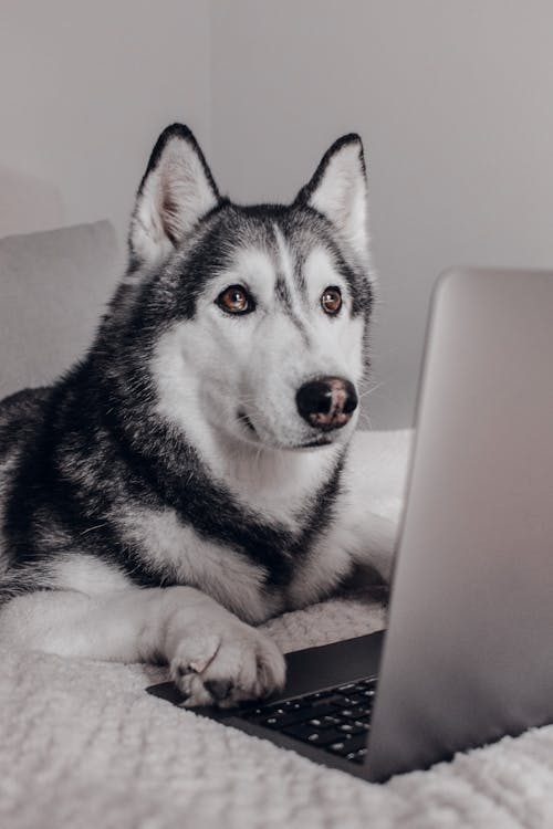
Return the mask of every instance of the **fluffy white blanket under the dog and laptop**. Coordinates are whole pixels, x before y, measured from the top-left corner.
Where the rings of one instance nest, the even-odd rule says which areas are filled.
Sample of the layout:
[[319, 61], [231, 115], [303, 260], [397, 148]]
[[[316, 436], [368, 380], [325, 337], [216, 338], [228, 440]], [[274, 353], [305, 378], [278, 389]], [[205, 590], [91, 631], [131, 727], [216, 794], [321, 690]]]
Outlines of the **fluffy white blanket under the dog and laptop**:
[[[397, 472], [383, 514], [397, 510], [407, 441], [374, 443], [374, 458]], [[348, 596], [265, 629], [294, 650], [384, 622], [374, 596]], [[0, 659], [4, 829], [553, 826], [553, 726], [378, 786], [149, 696], [163, 669], [15, 651]]]

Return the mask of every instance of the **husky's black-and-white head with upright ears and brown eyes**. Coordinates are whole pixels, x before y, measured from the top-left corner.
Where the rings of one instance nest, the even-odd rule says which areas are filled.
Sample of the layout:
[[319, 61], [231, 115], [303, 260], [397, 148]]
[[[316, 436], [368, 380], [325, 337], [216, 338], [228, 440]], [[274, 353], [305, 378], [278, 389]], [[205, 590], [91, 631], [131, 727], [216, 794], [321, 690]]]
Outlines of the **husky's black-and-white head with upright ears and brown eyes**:
[[[140, 285], [157, 410], [258, 448], [344, 442], [358, 416], [372, 291], [357, 135], [290, 206], [221, 198], [189, 129], [159, 137], [138, 190], [127, 284]], [[200, 441], [201, 442], [201, 441]]]

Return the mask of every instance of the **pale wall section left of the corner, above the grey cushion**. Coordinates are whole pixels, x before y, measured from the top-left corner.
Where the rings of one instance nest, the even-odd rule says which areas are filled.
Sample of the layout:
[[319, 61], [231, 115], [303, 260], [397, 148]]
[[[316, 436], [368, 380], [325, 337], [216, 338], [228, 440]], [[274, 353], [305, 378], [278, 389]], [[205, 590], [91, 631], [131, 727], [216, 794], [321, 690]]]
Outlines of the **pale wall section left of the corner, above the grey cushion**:
[[1, 0], [0, 235], [111, 219], [122, 246], [158, 133], [209, 146], [209, 4]]

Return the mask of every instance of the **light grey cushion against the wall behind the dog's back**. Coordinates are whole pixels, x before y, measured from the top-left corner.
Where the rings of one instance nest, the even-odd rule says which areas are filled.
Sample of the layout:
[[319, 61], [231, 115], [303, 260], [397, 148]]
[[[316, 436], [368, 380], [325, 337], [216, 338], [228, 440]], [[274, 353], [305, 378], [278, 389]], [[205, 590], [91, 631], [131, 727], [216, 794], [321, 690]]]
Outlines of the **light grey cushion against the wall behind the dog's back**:
[[0, 399], [83, 355], [118, 276], [107, 221], [0, 240]]

